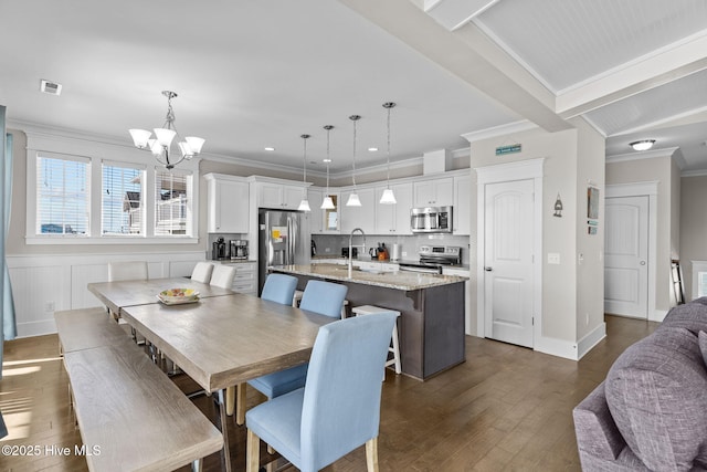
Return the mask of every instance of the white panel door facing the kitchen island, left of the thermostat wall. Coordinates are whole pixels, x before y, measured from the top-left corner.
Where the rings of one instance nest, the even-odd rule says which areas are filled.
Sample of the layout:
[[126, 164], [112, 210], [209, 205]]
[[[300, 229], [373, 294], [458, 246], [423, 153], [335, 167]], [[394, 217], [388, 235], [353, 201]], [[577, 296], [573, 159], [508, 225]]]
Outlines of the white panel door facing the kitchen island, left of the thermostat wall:
[[485, 336], [532, 347], [534, 181], [485, 188]]

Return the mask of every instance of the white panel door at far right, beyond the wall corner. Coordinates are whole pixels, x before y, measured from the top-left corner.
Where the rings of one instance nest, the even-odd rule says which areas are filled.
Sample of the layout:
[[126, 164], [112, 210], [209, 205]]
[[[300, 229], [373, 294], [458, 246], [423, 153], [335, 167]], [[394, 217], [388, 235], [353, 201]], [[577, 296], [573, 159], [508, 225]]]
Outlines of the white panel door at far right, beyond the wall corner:
[[648, 316], [648, 197], [605, 201], [604, 312]]

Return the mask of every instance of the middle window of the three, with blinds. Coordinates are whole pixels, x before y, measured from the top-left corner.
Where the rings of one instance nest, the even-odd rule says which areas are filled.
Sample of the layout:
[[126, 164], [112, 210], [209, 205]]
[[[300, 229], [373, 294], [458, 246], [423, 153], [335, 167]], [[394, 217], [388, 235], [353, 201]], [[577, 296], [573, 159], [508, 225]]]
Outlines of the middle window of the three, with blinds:
[[145, 234], [144, 175], [135, 166], [104, 162], [101, 234]]

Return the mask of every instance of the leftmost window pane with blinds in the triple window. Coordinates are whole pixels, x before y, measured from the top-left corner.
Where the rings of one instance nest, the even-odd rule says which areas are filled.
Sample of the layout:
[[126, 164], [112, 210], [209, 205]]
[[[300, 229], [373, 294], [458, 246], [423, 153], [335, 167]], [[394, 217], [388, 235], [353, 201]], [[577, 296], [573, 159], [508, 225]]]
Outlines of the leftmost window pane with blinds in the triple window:
[[89, 234], [88, 159], [39, 155], [35, 234]]

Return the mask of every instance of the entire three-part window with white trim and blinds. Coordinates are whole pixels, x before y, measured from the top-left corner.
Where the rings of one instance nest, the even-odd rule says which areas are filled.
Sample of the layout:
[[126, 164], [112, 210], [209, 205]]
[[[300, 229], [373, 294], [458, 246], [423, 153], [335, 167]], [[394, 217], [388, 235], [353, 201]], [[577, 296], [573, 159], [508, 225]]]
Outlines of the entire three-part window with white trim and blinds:
[[28, 244], [197, 244], [199, 164], [27, 129]]

